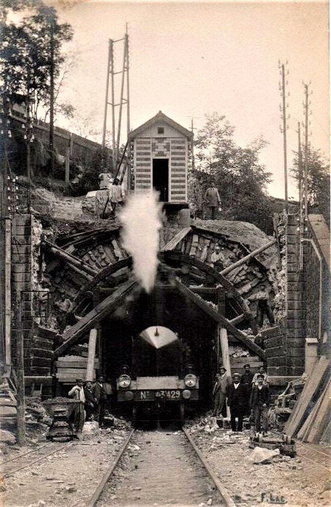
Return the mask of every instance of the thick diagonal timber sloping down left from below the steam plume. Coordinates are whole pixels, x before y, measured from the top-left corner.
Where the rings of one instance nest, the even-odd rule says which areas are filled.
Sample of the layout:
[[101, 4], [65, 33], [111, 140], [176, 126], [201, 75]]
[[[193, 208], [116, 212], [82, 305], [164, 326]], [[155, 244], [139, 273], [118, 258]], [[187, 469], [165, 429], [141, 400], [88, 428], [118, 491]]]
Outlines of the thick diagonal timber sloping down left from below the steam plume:
[[126, 296], [136, 287], [138, 283], [132, 279], [119, 287], [114, 294], [111, 294], [99, 303], [93, 310], [85, 315], [76, 324], [63, 334], [64, 342], [54, 350], [54, 357], [58, 357], [62, 352], [75, 344], [82, 336], [95, 327], [97, 322], [106, 315], [112, 313], [126, 298]]

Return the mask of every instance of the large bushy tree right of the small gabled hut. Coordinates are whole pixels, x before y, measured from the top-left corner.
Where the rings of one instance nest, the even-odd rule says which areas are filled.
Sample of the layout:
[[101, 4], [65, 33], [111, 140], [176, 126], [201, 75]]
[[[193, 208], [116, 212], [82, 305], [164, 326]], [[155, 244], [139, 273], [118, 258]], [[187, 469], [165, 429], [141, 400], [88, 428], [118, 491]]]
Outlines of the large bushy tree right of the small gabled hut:
[[195, 141], [195, 171], [189, 176], [189, 195], [204, 215], [203, 196], [214, 180], [222, 200], [222, 218], [251, 222], [272, 231], [272, 217], [266, 186], [271, 173], [259, 161], [266, 146], [258, 138], [245, 148], [234, 141], [234, 127], [225, 116], [206, 115], [204, 127]]

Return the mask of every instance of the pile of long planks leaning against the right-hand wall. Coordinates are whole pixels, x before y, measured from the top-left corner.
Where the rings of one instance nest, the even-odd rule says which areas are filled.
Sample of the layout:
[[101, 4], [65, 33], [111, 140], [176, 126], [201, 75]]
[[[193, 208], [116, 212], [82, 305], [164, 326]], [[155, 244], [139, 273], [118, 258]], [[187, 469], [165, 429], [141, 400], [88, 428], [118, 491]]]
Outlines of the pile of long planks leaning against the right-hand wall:
[[[331, 360], [321, 356], [294, 407], [285, 431], [291, 437], [310, 443], [327, 441], [330, 436]], [[328, 440], [329, 441], [329, 440]]]

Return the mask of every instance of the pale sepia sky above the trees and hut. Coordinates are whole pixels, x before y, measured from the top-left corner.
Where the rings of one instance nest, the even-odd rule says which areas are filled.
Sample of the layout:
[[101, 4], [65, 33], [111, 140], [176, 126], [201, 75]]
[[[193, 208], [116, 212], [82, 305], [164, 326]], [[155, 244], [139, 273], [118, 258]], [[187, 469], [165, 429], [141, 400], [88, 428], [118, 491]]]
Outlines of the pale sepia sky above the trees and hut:
[[[329, 156], [326, 3], [62, 0], [52, 5], [60, 22], [70, 23], [75, 32], [65, 48], [75, 55], [75, 67], [66, 77], [61, 99], [76, 107], [77, 117], [71, 122], [58, 118], [59, 126], [79, 133], [80, 119], [88, 118], [102, 131], [108, 39], [122, 38], [127, 23], [132, 129], [160, 110], [186, 128], [194, 117], [195, 133], [205, 114], [225, 115], [240, 146], [261, 135], [269, 142], [260, 160], [272, 172], [270, 195], [283, 197], [278, 61], [288, 61], [288, 165], [298, 146], [298, 121], [304, 119], [303, 82], [311, 82], [313, 91], [309, 140]], [[115, 70], [122, 67], [121, 44], [116, 44]], [[124, 128], [125, 119], [124, 111]], [[111, 127], [110, 111], [107, 125]], [[297, 198], [291, 178], [288, 196]]]

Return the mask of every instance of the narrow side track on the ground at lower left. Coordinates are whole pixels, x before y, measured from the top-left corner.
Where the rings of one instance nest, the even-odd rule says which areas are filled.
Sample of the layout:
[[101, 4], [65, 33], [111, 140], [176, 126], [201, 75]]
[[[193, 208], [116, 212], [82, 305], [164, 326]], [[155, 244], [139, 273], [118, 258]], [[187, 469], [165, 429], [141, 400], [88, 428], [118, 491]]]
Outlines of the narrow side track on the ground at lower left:
[[43, 459], [61, 451], [71, 445], [71, 442], [67, 442], [65, 445], [60, 445], [55, 442], [48, 442], [35, 449], [29, 449], [24, 451], [17, 456], [13, 456], [1, 463], [2, 475], [4, 478], [8, 478], [23, 470], [24, 468], [31, 467], [34, 463], [38, 463]]

